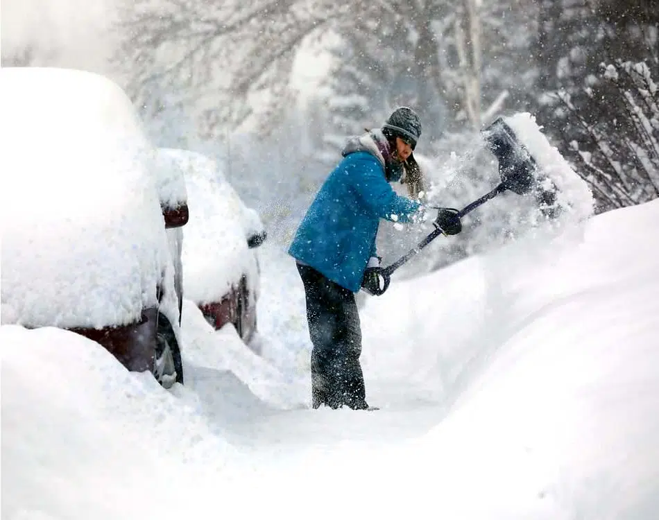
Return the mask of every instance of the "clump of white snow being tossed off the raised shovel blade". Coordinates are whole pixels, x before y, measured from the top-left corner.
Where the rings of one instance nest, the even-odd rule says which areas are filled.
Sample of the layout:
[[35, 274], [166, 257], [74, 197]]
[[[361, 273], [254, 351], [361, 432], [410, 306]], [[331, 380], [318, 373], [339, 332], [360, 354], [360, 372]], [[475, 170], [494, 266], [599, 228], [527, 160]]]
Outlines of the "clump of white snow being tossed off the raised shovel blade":
[[[591, 216], [594, 211], [594, 198], [588, 184], [577, 175], [563, 155], [560, 155], [558, 148], [549, 144], [547, 137], [540, 132], [536, 118], [529, 112], [518, 112], [505, 117], [504, 121], [513, 129], [520, 143], [529, 150], [531, 157], [536, 159], [536, 176], [542, 187], [553, 190], [551, 183], [556, 187], [554, 205], [562, 210], [558, 218], [579, 222]], [[566, 211], [569, 217], [563, 216]]]

